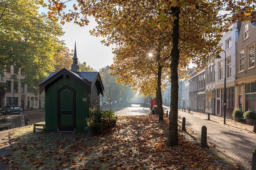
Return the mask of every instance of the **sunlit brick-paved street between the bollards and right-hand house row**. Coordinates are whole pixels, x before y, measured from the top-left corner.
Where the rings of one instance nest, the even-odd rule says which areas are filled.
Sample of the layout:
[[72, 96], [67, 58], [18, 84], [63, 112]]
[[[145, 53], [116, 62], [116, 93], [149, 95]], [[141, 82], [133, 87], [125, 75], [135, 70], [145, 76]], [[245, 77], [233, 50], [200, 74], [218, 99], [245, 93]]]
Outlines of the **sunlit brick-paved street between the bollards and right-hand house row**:
[[[165, 110], [167, 107], [165, 107]], [[170, 109], [170, 108], [168, 108]], [[179, 120], [186, 118], [186, 127], [201, 136], [201, 127], [207, 127], [207, 142], [215, 144], [215, 147], [244, 168], [251, 169], [252, 153], [256, 149], [256, 134], [234, 128], [232, 126], [208, 121], [188, 112], [179, 111]]]

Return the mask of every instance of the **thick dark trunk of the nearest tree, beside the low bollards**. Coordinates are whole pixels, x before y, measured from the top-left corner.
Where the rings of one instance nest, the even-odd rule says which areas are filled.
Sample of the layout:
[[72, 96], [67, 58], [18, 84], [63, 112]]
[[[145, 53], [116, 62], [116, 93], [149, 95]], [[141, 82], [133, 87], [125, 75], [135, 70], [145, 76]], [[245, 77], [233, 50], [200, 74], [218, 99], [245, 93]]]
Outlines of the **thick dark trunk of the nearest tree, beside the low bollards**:
[[178, 64], [180, 58], [179, 51], [179, 17], [180, 7], [171, 7], [171, 11], [175, 16], [173, 21], [172, 32], [172, 50], [171, 50], [171, 105], [170, 105], [170, 121], [167, 146], [174, 147], [178, 145]]

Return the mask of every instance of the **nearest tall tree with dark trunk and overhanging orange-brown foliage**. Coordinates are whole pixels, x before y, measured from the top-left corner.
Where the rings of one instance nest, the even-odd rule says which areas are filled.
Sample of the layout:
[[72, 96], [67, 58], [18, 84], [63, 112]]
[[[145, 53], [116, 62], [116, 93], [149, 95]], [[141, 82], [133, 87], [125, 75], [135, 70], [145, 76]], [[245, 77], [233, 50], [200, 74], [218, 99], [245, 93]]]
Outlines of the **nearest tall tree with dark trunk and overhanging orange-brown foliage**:
[[[235, 22], [237, 19], [255, 20], [252, 15], [255, 0], [82, 0], [74, 4], [72, 12], [63, 13], [64, 7], [64, 3], [51, 0], [49, 17], [56, 19], [60, 16], [63, 22], [74, 20], [80, 26], [88, 24], [87, 16], [93, 16], [98, 21], [107, 21], [98, 22], [98, 34], [95, 35], [106, 36], [106, 39], [120, 38], [120, 43], [129, 41], [127, 33], [136, 32], [145, 23], [150, 23], [155, 29], [169, 32], [166, 32], [166, 36], [171, 37], [171, 47], [169, 46], [166, 56], [170, 56], [172, 86], [168, 146], [178, 145], [178, 67], [186, 63], [183, 62], [185, 60], [192, 61], [198, 67], [204, 66], [203, 63], [211, 57], [210, 54], [215, 54], [221, 36], [218, 33], [225, 31], [228, 22]], [[110, 22], [113, 24], [109, 25]], [[130, 32], [126, 32], [127, 30]], [[140, 30], [140, 33], [142, 32]], [[142, 33], [139, 36], [147, 35]], [[157, 48], [154, 50], [157, 51]]]

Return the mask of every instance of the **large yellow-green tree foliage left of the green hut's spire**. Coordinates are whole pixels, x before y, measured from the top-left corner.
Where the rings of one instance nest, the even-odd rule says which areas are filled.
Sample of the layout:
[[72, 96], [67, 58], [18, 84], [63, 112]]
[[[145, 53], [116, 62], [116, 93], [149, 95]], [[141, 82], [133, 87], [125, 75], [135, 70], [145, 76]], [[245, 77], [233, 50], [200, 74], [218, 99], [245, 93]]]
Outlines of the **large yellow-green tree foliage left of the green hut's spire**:
[[[39, 13], [34, 0], [0, 2], [0, 73], [5, 66], [23, 70], [24, 81], [32, 88], [55, 70], [58, 37], [64, 32], [60, 24]], [[33, 90], [37, 92], [37, 90]]]

